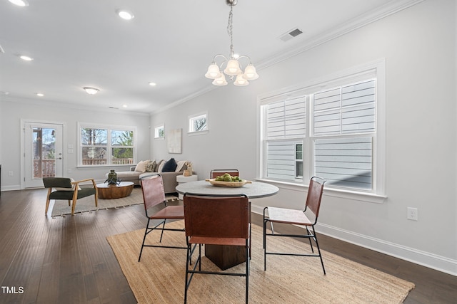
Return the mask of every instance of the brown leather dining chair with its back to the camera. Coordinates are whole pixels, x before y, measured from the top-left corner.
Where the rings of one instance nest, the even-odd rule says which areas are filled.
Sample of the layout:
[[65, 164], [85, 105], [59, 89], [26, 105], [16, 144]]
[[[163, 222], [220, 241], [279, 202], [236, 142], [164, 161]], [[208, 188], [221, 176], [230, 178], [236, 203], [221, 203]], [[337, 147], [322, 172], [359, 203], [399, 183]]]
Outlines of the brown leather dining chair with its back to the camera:
[[[246, 278], [246, 303], [249, 290], [249, 248], [251, 243], [251, 202], [248, 196], [207, 196], [184, 194], [184, 223], [187, 236], [186, 285], [184, 303], [194, 273], [223, 276], [243, 276]], [[194, 249], [199, 245], [199, 256], [194, 268], [190, 268]], [[246, 271], [231, 273], [224, 271], [201, 270], [201, 245], [240, 246], [246, 254]], [[197, 269], [198, 268], [198, 269]], [[190, 275], [190, 276], [189, 276]]]

